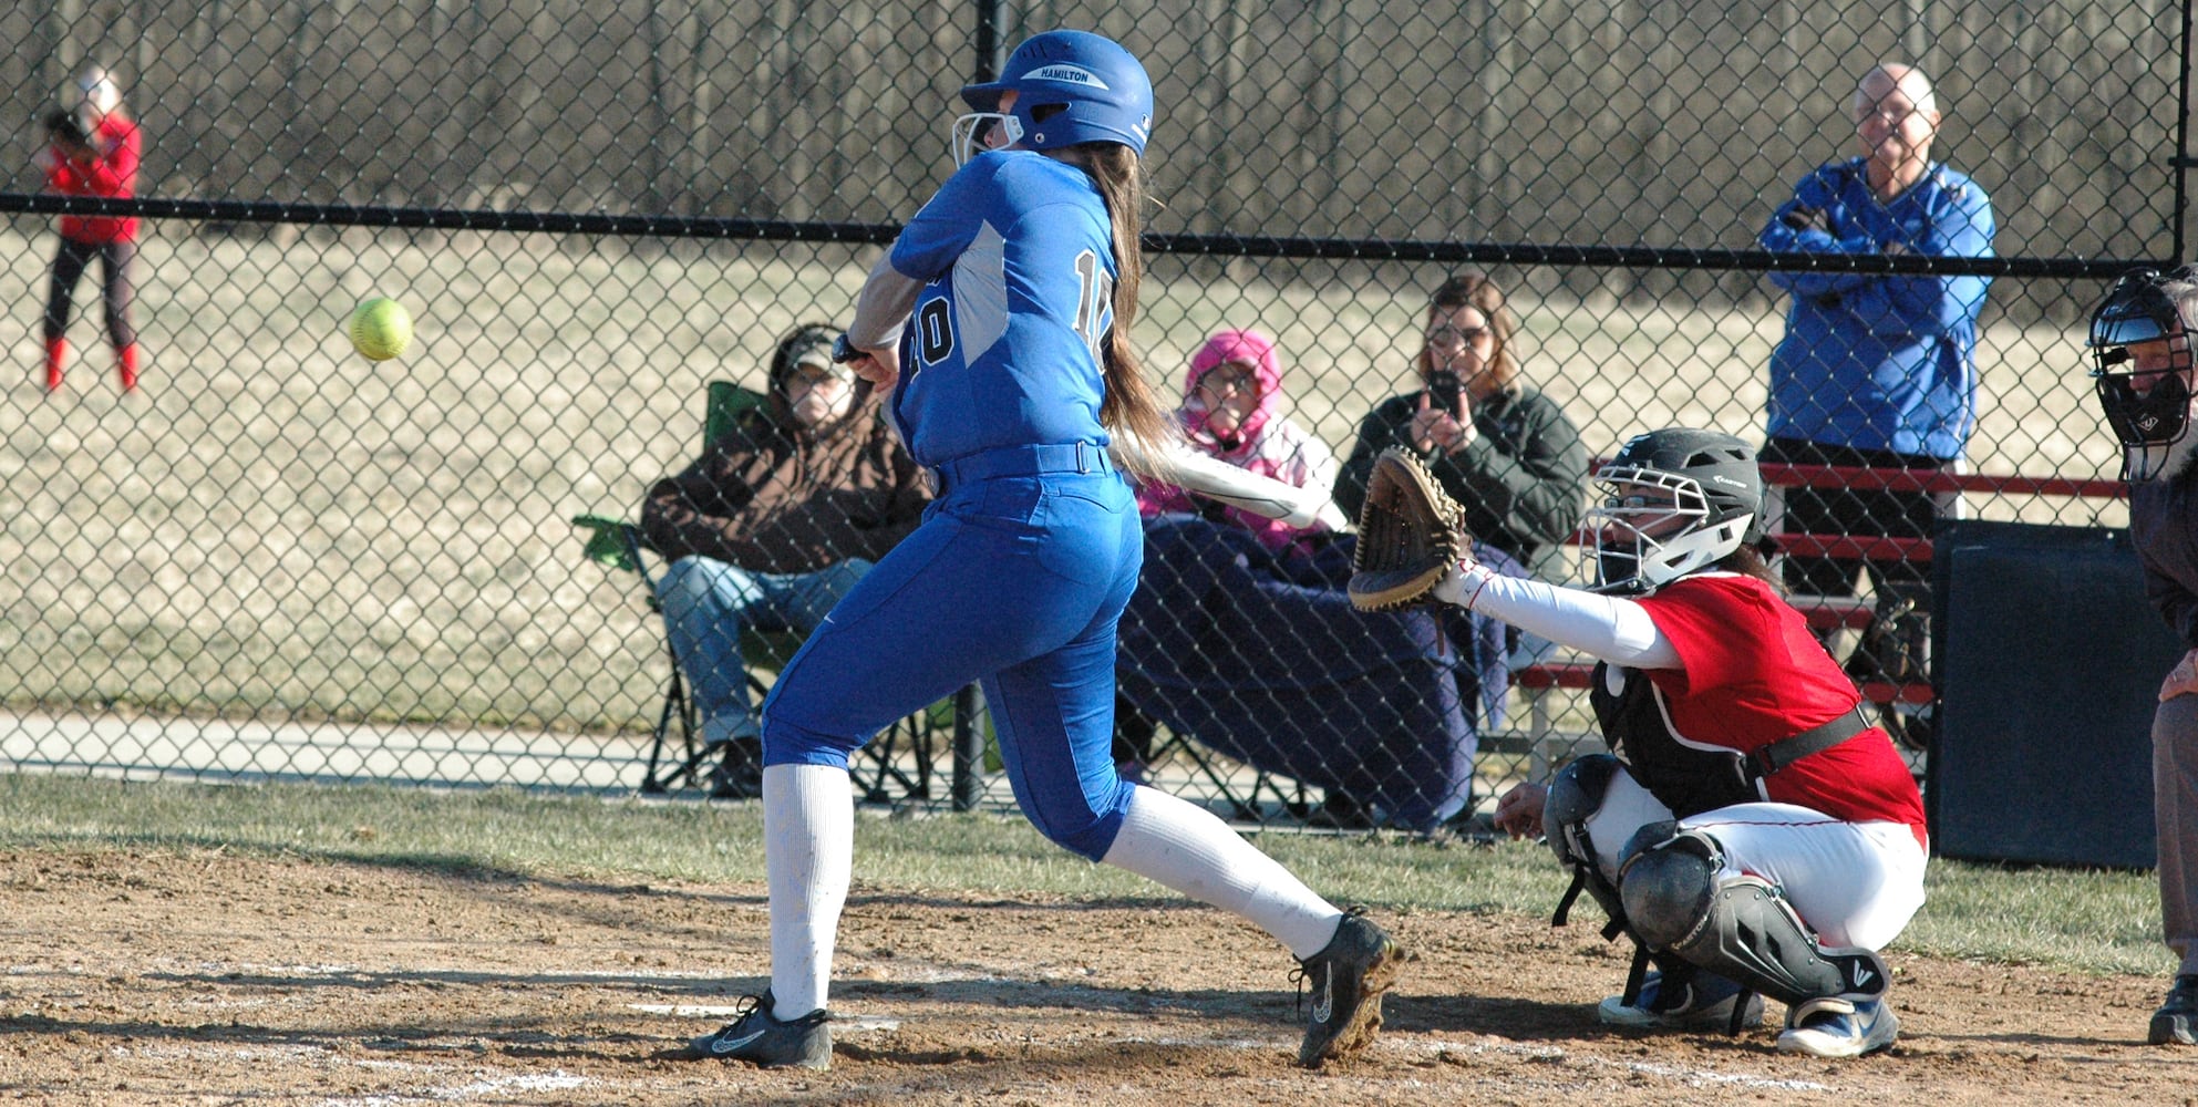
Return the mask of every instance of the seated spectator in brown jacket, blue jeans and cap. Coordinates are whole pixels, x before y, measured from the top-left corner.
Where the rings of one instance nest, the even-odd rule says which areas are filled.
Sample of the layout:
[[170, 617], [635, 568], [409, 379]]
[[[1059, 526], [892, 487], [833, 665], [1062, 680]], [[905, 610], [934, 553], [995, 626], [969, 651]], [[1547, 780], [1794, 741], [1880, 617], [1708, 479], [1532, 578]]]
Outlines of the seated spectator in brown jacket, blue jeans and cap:
[[703, 740], [730, 742], [712, 795], [761, 795], [741, 633], [815, 630], [930, 501], [870, 384], [831, 360], [835, 336], [785, 336], [765, 402], [642, 503], [642, 534], [670, 560], [657, 597]]

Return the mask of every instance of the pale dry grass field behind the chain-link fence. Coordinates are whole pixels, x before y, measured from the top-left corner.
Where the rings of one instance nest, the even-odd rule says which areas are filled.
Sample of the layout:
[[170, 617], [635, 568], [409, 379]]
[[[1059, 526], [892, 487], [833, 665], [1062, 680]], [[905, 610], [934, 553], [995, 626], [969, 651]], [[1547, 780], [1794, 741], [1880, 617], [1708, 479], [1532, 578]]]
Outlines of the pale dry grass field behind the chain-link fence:
[[[44, 292], [42, 220], [0, 226], [0, 299]], [[97, 312], [46, 398], [37, 312], [0, 318], [0, 696], [156, 714], [637, 731], [662, 685], [631, 578], [569, 518], [633, 516], [697, 452], [710, 378], [761, 382], [771, 340], [846, 318], [873, 253], [774, 244], [160, 224], [141, 253], [145, 391], [119, 398]], [[1275, 332], [1295, 413], [1339, 450], [1407, 384], [1437, 266], [1165, 261], [1136, 343], [1163, 395], [1218, 325]], [[1528, 376], [1589, 448], [1675, 422], [1754, 435], [1767, 305], [1514, 294]], [[79, 305], [90, 305], [90, 286]], [[2022, 294], [2007, 283], [2009, 297]], [[371, 365], [341, 338], [369, 294], [418, 338]], [[2112, 472], [2082, 349], [1989, 327], [1976, 468]], [[2088, 523], [2090, 507], [1972, 503]], [[2119, 518], [2103, 516], [2112, 525]]]

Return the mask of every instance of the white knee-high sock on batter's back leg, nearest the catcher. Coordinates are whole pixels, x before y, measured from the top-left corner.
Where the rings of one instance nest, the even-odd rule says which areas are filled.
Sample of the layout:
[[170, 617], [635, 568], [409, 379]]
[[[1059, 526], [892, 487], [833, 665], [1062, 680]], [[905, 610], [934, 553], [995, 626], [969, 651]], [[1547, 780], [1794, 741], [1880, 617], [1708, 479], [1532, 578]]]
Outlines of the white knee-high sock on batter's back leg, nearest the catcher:
[[1136, 789], [1130, 797], [1103, 861], [1248, 918], [1299, 960], [1328, 947], [1343, 920], [1336, 905], [1211, 810], [1156, 789]]

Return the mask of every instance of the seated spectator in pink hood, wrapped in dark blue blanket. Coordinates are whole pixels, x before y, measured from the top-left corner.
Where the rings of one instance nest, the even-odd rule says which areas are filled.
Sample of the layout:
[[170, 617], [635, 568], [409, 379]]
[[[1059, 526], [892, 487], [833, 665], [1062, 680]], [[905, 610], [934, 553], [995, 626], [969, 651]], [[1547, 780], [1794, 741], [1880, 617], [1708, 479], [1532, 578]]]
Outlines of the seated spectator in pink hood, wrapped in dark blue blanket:
[[[1281, 402], [1275, 343], [1224, 329], [1191, 356], [1178, 417], [1222, 461], [1334, 488], [1334, 455]], [[1169, 485], [1141, 488], [1139, 507], [1145, 571], [1123, 613], [1117, 762], [1136, 771], [1165, 723], [1321, 789], [1314, 826], [1435, 830], [1468, 813], [1477, 736], [1510, 687], [1501, 624], [1356, 611], [1343, 591], [1352, 540], [1319, 525]]]

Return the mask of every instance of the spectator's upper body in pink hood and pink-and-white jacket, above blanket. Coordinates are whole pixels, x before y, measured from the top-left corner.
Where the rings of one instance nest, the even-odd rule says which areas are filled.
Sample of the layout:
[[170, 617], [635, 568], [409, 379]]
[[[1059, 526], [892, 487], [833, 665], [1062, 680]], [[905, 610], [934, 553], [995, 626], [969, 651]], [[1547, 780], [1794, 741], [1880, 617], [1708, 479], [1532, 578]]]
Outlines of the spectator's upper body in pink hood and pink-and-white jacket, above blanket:
[[[1183, 437], [1231, 466], [1273, 477], [1295, 488], [1332, 488], [1336, 455], [1325, 441], [1281, 415], [1281, 362], [1275, 340], [1255, 329], [1215, 332], [1196, 354], [1183, 380]], [[1189, 492], [1143, 483], [1136, 507], [1145, 518], [1161, 514], [1205, 514], [1253, 532], [1270, 554], [1306, 551], [1328, 525], [1288, 523], [1194, 499]]]

